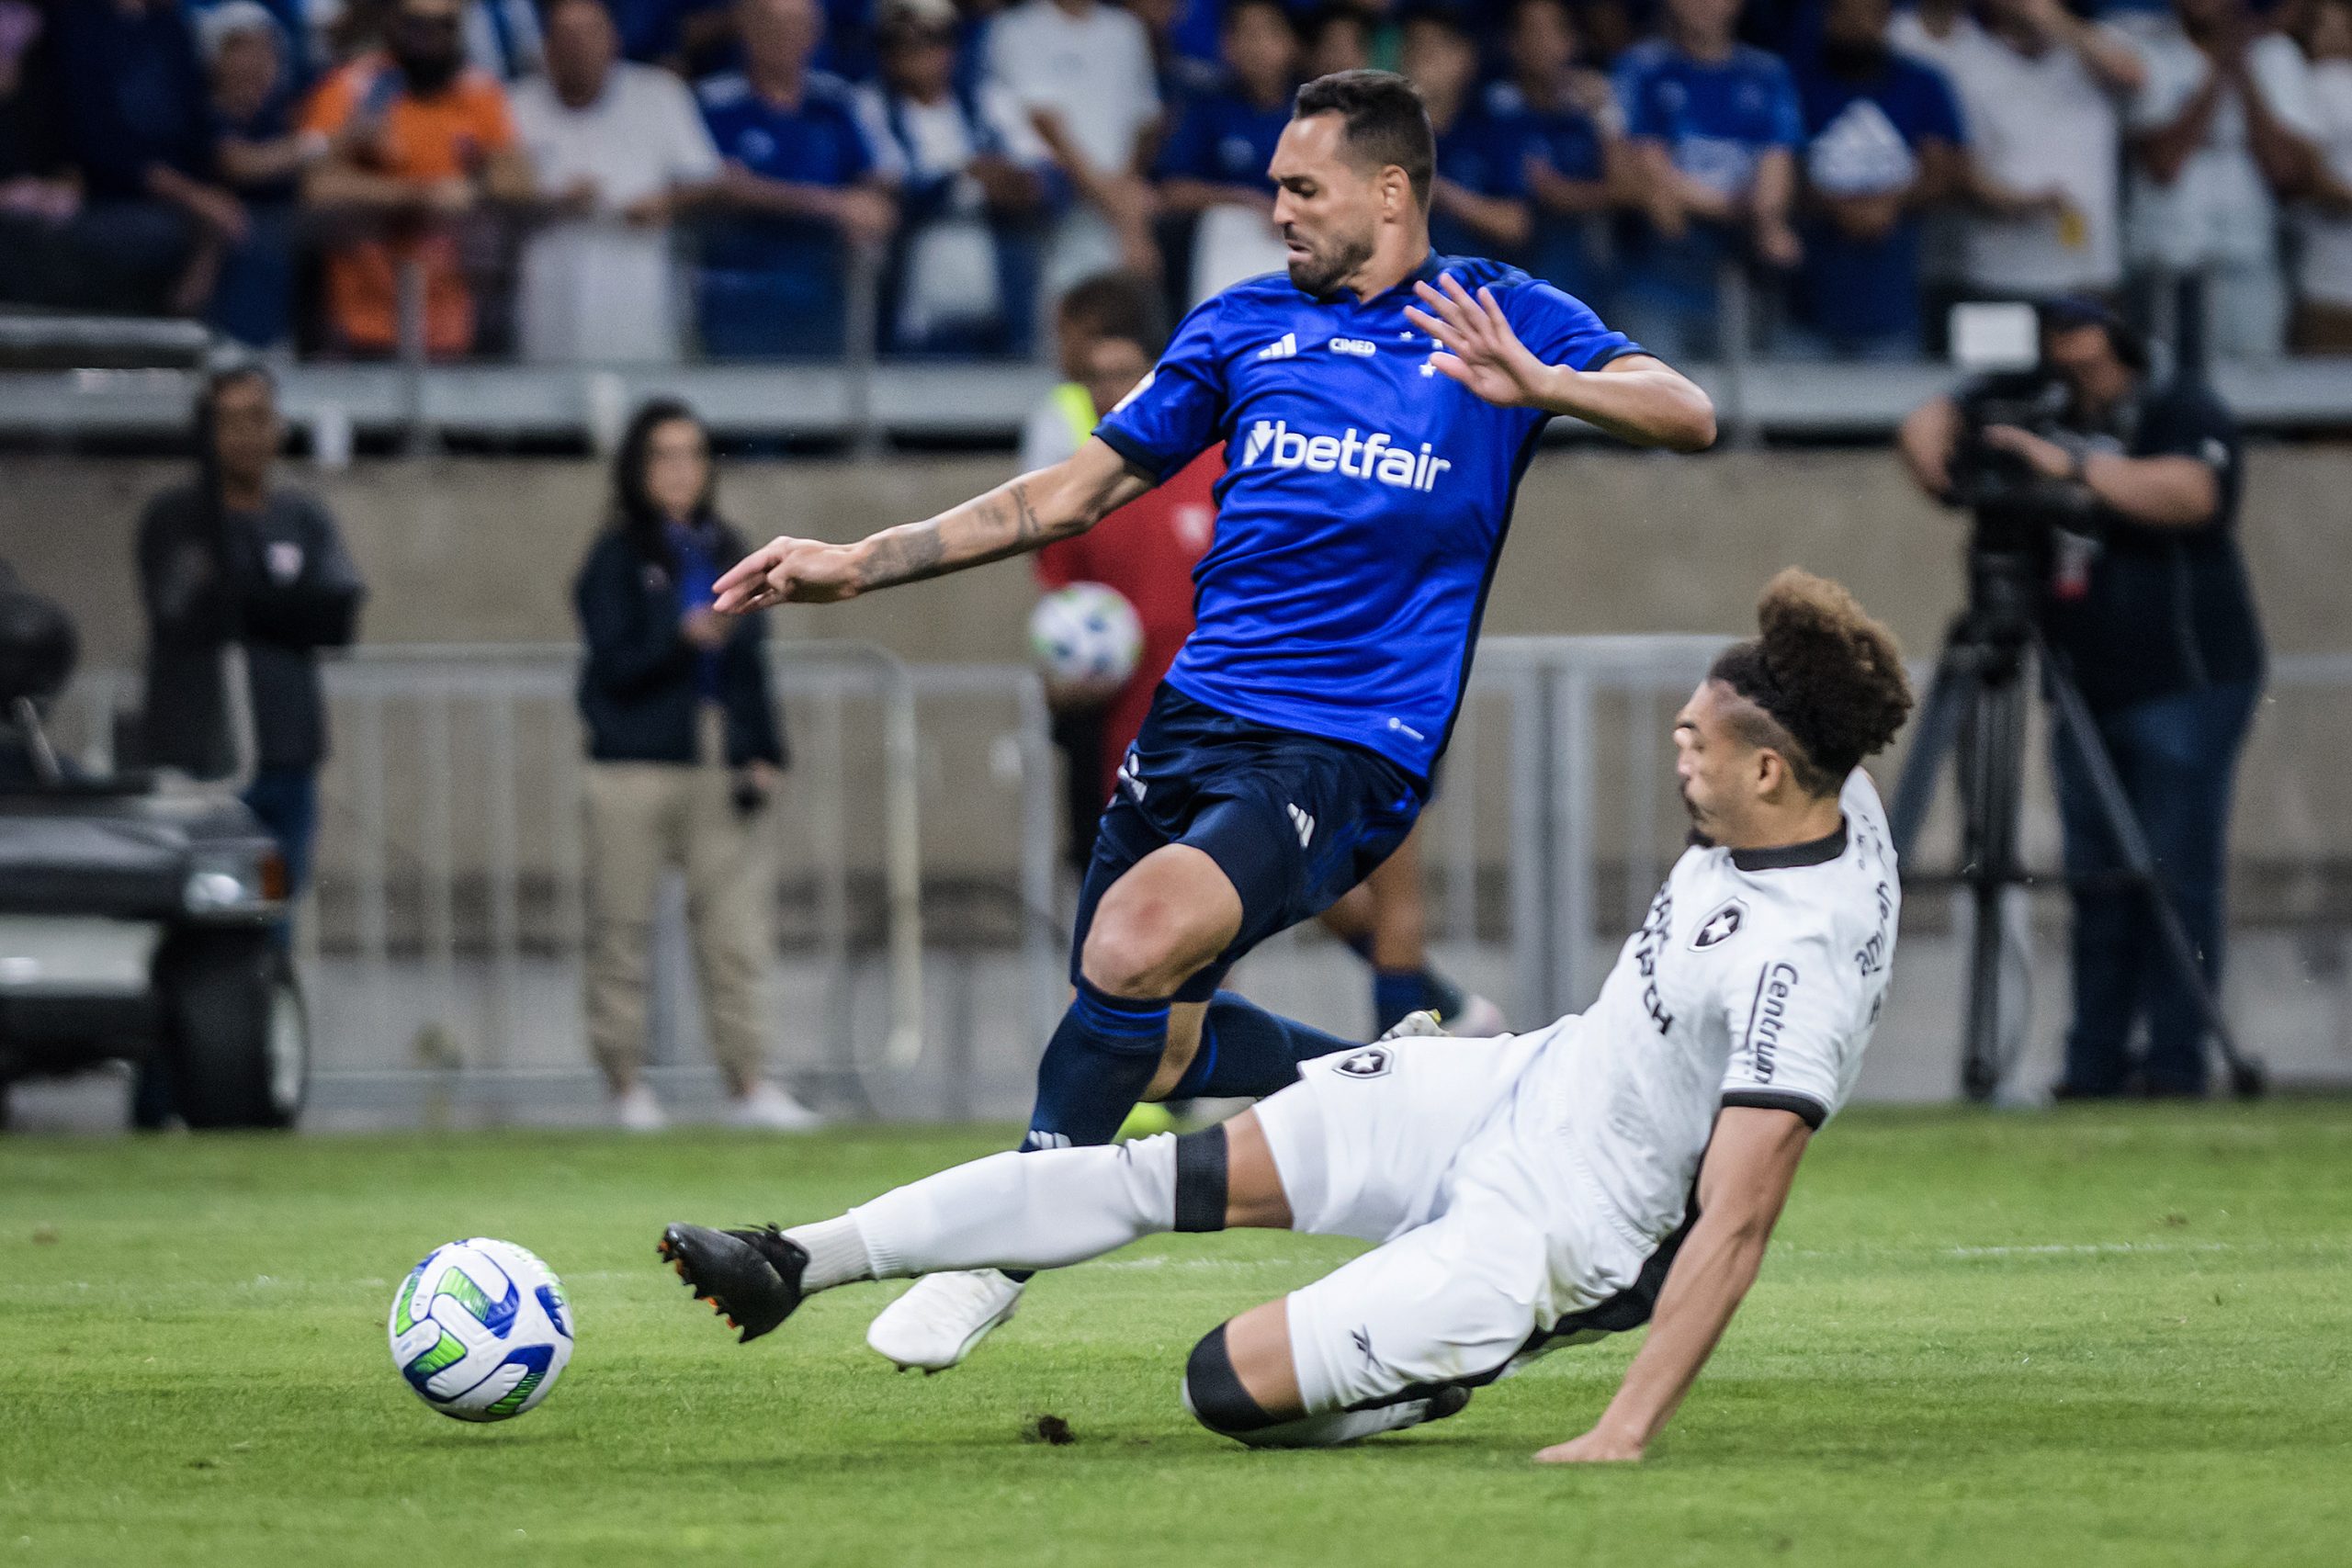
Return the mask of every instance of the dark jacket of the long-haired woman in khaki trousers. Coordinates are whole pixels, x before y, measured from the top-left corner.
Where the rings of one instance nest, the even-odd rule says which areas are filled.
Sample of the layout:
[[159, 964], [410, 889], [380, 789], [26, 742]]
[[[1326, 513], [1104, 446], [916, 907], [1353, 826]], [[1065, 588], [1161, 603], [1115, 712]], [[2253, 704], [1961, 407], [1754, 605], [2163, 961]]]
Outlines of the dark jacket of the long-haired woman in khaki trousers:
[[[720, 527], [724, 564], [743, 559], [743, 541]], [[604, 529], [588, 548], [579, 583], [588, 656], [581, 661], [581, 717], [597, 762], [694, 762], [696, 649], [682, 635], [677, 564], [666, 548]], [[720, 646], [720, 708], [727, 715], [727, 762], [783, 766], [783, 726], [767, 689], [767, 628], [736, 616]]]

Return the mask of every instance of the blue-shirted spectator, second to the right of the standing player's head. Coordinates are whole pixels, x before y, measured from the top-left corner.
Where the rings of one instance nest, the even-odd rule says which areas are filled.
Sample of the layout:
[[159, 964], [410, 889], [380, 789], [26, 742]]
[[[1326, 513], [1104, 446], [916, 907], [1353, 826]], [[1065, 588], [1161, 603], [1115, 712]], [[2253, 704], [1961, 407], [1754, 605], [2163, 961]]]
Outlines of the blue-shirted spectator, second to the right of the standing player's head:
[[1486, 87], [1486, 113], [1524, 136], [1536, 207], [1529, 270], [1583, 301], [1604, 292], [1599, 219], [1625, 181], [1625, 113], [1609, 78], [1576, 63], [1566, 0], [1517, 0], [1503, 54], [1510, 75]]

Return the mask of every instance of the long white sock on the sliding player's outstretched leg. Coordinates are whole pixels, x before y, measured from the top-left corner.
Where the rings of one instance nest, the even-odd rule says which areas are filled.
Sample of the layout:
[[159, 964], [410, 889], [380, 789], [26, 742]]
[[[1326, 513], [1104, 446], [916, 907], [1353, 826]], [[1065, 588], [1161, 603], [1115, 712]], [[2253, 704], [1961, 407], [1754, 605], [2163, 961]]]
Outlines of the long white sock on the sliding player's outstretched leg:
[[990, 1154], [884, 1192], [849, 1218], [875, 1279], [1061, 1269], [1176, 1227], [1176, 1138]]

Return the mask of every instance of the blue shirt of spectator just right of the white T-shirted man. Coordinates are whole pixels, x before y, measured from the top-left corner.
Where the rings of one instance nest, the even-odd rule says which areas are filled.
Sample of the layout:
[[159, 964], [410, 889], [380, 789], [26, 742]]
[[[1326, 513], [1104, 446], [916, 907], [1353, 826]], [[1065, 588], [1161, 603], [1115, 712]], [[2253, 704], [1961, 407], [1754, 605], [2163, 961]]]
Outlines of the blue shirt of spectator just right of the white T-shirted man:
[[[849, 85], [811, 71], [795, 108], [769, 103], [741, 73], [703, 78], [696, 89], [720, 158], [753, 174], [802, 186], [847, 188], [875, 167]], [[734, 216], [713, 223], [703, 266], [746, 273], [833, 268], [835, 230], [781, 216]]]

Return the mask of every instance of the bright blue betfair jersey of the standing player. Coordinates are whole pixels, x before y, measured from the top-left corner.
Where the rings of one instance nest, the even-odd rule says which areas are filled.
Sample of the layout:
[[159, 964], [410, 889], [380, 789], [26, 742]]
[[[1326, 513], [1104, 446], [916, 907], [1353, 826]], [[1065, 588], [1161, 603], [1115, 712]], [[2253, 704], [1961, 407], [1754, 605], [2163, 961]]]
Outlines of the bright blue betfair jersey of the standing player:
[[[1517, 268], [1430, 256], [1494, 289], [1536, 357], [1599, 369], [1639, 353]], [[1225, 444], [1216, 543], [1195, 567], [1185, 696], [1348, 741], [1428, 776], [1461, 705], [1519, 475], [1550, 418], [1498, 409], [1430, 364], [1411, 284], [1315, 299], [1284, 273], [1237, 282], [1176, 329], [1096, 428], [1167, 477]]]

